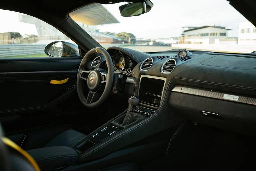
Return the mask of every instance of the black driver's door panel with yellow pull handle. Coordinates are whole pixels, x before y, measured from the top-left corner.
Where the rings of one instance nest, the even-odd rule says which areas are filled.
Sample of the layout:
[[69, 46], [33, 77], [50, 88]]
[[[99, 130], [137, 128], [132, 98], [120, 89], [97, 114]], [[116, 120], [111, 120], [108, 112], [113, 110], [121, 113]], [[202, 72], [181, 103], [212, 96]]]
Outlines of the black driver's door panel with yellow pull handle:
[[[0, 58], [0, 121], [5, 131], [22, 132], [61, 124], [61, 119], [47, 111], [46, 106], [76, 84], [80, 62], [80, 57]], [[68, 81], [63, 84], [50, 83], [66, 78]], [[72, 106], [72, 100], [69, 103]]]

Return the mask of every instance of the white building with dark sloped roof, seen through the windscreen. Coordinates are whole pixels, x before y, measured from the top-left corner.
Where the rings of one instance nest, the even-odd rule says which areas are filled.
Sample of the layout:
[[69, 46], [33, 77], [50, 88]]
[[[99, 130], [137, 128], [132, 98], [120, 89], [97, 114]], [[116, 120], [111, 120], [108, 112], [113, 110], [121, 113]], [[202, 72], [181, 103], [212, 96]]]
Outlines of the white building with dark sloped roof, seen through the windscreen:
[[202, 26], [184, 30], [184, 43], [189, 44], [215, 44], [215, 39], [224, 39], [227, 37], [225, 27], [220, 26]]

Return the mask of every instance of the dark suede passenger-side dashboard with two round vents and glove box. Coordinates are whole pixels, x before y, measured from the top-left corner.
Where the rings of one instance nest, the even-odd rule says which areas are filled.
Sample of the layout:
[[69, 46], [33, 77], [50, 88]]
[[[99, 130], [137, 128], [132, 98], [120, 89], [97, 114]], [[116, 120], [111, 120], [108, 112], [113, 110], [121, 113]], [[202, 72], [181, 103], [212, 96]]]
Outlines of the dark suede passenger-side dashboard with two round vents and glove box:
[[[256, 136], [255, 56], [191, 53], [184, 61], [184, 57], [178, 57], [177, 52], [147, 53], [150, 56], [132, 70], [131, 77], [136, 80], [135, 87], [144, 75], [166, 78], [164, 90], [170, 91], [168, 104], [184, 118]], [[159, 60], [159, 54], [168, 57]], [[152, 59], [151, 66], [143, 70], [147, 59]], [[175, 64], [171, 71], [164, 73], [163, 66], [172, 60], [175, 60]], [[180, 91], [175, 91], [179, 85]], [[189, 91], [184, 91], [185, 89]], [[135, 94], [138, 94], [136, 88]]]

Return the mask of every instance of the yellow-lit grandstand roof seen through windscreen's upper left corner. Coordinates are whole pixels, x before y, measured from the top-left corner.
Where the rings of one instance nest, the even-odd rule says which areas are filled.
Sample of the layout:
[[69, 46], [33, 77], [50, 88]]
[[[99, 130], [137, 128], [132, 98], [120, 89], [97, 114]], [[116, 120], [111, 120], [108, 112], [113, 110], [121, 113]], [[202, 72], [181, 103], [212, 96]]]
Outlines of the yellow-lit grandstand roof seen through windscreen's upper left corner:
[[90, 4], [71, 12], [70, 17], [77, 22], [87, 25], [103, 25], [119, 23], [119, 21], [102, 5]]

